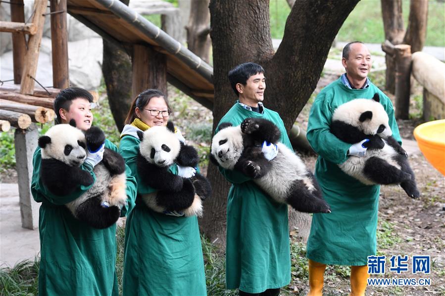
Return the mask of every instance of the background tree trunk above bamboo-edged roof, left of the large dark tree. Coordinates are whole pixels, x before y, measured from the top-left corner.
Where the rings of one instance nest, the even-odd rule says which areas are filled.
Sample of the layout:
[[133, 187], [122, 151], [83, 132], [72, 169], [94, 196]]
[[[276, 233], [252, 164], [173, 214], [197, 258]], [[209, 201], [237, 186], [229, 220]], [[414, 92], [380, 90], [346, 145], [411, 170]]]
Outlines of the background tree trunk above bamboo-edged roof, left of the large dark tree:
[[193, 0], [187, 25], [187, 46], [204, 62], [210, 61], [210, 0]]

